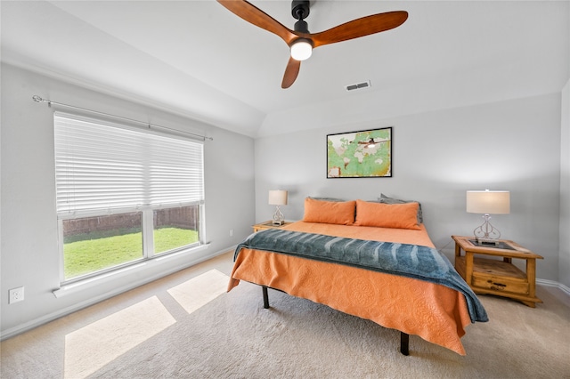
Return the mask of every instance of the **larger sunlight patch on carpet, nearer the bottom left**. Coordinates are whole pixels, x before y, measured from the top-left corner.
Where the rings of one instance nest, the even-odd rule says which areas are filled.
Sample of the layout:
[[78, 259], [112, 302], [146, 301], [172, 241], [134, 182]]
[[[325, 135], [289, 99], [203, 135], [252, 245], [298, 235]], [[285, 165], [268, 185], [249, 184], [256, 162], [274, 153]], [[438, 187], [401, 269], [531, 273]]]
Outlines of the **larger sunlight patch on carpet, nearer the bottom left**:
[[65, 378], [84, 378], [175, 324], [152, 296], [65, 336]]

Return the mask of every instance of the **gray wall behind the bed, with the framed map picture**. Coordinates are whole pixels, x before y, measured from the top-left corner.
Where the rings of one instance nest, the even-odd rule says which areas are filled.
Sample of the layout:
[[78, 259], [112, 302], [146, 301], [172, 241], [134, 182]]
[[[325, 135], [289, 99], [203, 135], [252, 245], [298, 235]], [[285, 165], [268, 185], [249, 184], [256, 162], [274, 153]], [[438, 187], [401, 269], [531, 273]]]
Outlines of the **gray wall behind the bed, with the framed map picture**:
[[[538, 278], [558, 281], [560, 93], [256, 139], [256, 222], [268, 220], [269, 189], [288, 189], [285, 218], [303, 217], [307, 196], [363, 200], [380, 193], [418, 200], [435, 245], [483, 222], [466, 212], [468, 189], [508, 189], [511, 213], [493, 216], [502, 238], [544, 260]], [[326, 135], [393, 126], [393, 177], [326, 179]], [[567, 274], [566, 274], [567, 275]]]

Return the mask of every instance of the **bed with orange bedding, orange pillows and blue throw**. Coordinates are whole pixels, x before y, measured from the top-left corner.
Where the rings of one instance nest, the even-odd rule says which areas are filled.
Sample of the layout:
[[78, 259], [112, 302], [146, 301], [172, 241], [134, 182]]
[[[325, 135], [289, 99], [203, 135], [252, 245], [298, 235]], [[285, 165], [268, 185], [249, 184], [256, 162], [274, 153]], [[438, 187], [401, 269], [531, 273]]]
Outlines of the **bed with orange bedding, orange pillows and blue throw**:
[[[250, 235], [237, 248], [228, 291], [245, 280], [370, 319], [466, 355], [465, 327], [483, 305], [435, 249], [417, 202], [305, 199], [303, 221]], [[409, 269], [407, 266], [414, 266]], [[406, 272], [407, 271], [407, 272]]]

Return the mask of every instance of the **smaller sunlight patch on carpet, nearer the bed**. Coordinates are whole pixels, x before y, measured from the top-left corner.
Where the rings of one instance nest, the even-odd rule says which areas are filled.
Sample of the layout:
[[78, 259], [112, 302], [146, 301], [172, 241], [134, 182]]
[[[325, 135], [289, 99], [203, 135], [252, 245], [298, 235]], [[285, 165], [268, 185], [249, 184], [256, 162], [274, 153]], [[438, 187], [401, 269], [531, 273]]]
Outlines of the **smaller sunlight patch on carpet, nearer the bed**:
[[198, 310], [201, 306], [224, 294], [228, 288], [230, 277], [218, 270], [209, 270], [196, 278], [191, 278], [183, 284], [168, 290], [168, 294], [182, 305], [188, 313]]

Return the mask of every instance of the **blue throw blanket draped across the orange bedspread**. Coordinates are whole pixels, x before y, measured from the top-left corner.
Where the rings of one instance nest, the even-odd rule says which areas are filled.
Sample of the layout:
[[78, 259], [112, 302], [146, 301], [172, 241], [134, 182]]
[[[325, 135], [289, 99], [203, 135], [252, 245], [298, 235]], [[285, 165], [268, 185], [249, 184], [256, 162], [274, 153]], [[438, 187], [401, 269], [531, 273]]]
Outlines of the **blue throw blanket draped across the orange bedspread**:
[[489, 320], [476, 294], [445, 255], [433, 247], [278, 229], [250, 235], [236, 248], [234, 261], [242, 247], [342, 263], [448, 286], [465, 295], [471, 322]]

